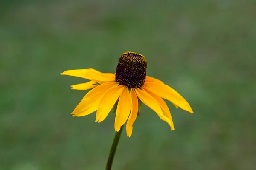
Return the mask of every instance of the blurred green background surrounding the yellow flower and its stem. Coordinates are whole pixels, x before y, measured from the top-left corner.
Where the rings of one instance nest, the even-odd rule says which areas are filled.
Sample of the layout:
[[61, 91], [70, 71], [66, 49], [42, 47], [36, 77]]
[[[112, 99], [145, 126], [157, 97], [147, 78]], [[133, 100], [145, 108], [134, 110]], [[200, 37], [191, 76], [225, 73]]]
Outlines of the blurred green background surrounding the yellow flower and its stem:
[[[143, 105], [114, 170], [256, 169], [255, 0], [1, 0], [0, 170], [102, 170], [114, 114], [71, 117], [86, 82], [136, 51], [177, 90], [175, 131]], [[125, 132], [125, 131], [124, 131]]]

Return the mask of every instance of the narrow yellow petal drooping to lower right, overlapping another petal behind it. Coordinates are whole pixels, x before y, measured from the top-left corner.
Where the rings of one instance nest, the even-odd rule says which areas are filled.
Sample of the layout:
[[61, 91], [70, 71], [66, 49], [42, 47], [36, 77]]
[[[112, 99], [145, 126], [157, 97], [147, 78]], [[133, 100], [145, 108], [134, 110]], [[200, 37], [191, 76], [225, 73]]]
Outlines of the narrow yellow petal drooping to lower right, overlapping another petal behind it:
[[139, 97], [139, 99], [147, 105], [149, 108], [151, 108], [153, 111], [157, 113], [157, 115], [162, 119], [163, 121], [166, 121], [170, 126], [172, 125], [171, 120], [164, 116], [163, 111], [154, 97], [150, 96], [146, 91], [140, 90], [139, 88], [135, 88], [136, 94]]

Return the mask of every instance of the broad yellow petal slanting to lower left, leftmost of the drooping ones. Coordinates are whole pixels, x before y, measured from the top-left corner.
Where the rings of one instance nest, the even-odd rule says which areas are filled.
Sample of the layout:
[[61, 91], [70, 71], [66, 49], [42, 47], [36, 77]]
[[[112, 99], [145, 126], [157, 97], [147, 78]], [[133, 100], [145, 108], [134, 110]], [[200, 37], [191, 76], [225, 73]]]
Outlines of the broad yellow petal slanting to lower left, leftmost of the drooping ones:
[[93, 113], [98, 109], [99, 101], [104, 93], [108, 89], [118, 86], [118, 84], [118, 82], [106, 82], [93, 88], [84, 96], [71, 114], [73, 114], [73, 116], [85, 116]]

